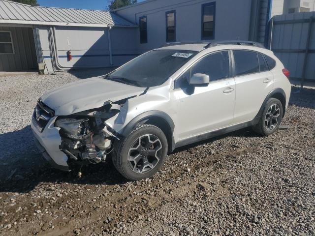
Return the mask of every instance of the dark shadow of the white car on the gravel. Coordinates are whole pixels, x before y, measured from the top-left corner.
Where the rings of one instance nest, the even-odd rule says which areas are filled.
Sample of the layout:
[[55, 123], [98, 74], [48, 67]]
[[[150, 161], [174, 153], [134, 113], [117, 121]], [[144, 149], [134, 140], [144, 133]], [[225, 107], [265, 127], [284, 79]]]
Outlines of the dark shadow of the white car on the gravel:
[[[230, 134], [221, 135], [192, 145], [177, 148], [173, 153], [213, 142], [227, 136], [252, 137], [255, 134], [249, 129], [235, 131]], [[83, 166], [82, 177], [78, 177], [79, 167], [72, 172], [63, 172], [53, 169], [41, 156], [33, 143], [30, 125], [13, 132], [0, 135], [0, 142], [8, 147], [6, 153], [0, 153], [0, 192], [28, 193], [39, 183], [75, 183], [75, 184], [124, 184], [128, 180], [122, 177], [114, 168], [110, 157], [104, 163]]]

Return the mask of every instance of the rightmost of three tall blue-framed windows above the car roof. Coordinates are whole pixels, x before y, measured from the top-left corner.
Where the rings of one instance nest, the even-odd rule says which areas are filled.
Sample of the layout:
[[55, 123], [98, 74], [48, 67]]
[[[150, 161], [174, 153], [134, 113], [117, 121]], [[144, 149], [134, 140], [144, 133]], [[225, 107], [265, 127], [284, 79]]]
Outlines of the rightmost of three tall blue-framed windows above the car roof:
[[215, 38], [216, 2], [202, 4], [201, 40]]

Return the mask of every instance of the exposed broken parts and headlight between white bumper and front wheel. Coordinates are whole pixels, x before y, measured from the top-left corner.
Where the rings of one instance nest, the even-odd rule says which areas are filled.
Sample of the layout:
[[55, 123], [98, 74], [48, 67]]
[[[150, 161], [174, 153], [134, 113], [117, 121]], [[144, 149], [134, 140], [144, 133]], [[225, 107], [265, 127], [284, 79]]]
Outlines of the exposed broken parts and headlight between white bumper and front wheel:
[[68, 165], [86, 165], [105, 161], [113, 142], [119, 140], [111, 127], [105, 124], [108, 118], [120, 112], [121, 105], [106, 102], [98, 109], [60, 116], [55, 126], [60, 128], [60, 150], [68, 157]]

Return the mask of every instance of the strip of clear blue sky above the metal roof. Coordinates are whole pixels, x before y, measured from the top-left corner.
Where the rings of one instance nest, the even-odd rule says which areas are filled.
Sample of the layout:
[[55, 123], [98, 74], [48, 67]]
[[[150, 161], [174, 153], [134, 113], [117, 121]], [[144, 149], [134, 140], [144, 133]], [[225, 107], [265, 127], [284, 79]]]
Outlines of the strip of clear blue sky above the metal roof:
[[[138, 0], [138, 2], [143, 0]], [[37, 0], [40, 6], [106, 10], [110, 0]]]

